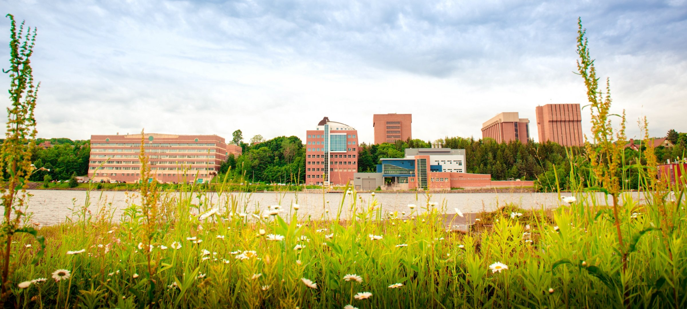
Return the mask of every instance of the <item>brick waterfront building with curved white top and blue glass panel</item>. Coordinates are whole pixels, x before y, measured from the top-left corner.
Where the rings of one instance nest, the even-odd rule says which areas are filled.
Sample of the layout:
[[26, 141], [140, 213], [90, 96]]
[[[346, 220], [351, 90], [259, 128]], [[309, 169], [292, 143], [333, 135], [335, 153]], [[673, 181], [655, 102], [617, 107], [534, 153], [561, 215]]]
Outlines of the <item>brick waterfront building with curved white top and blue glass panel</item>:
[[346, 185], [358, 171], [358, 131], [324, 117], [306, 131], [306, 184]]

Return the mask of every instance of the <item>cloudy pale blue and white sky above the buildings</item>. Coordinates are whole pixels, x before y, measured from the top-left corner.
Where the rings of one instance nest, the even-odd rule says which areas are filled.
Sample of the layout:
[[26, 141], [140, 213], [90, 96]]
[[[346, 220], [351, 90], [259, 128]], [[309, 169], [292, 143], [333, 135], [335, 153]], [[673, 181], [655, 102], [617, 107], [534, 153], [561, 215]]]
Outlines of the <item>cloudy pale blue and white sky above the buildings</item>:
[[[0, 0], [38, 28], [38, 137], [216, 134], [305, 139], [322, 117], [374, 140], [372, 115], [412, 136], [482, 136], [497, 113], [587, 104], [577, 19], [628, 137], [687, 132], [687, 2]], [[0, 67], [7, 69], [9, 19]], [[1, 34], [1, 32], [0, 32]], [[9, 85], [7, 74], [0, 85]], [[10, 104], [7, 96], [0, 104]], [[589, 108], [583, 130], [589, 134]], [[617, 122], [616, 122], [617, 124]]]

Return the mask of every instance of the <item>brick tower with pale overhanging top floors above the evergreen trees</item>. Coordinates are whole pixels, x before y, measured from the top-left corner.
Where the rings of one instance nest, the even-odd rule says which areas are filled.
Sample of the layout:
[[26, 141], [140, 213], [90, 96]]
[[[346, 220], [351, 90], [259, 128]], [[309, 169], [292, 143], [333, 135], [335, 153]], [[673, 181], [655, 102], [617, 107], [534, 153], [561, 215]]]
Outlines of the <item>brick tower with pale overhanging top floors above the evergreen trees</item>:
[[491, 137], [502, 143], [519, 140], [527, 144], [530, 140], [530, 120], [520, 118], [518, 113], [500, 113], [482, 124], [482, 138]]

